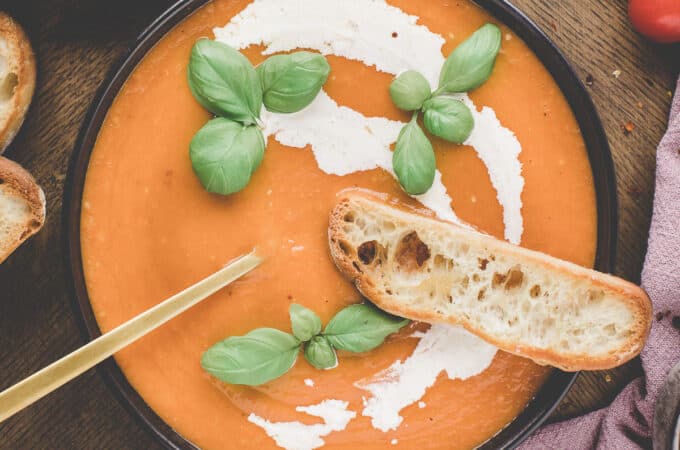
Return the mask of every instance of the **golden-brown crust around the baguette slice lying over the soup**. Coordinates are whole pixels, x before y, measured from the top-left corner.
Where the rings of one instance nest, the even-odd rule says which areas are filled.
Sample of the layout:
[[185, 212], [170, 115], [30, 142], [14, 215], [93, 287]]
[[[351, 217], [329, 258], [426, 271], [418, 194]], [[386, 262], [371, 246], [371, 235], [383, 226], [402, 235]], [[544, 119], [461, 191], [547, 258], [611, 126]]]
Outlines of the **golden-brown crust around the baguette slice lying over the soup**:
[[[460, 317], [446, 316], [442, 317], [436, 311], [425, 311], [419, 308], [413, 308], [410, 305], [405, 305], [395, 298], [385, 295], [380, 290], [376, 289], [376, 283], [372, 280], [366, 272], [361, 270], [361, 261], [358, 261], [349, 255], [341, 248], [343, 240], [343, 222], [347, 213], [352, 212], [356, 202], [363, 202], [365, 207], [372, 207], [374, 204], [382, 204], [392, 208], [398, 208], [402, 212], [411, 215], [417, 215], [414, 220], [426, 221], [428, 226], [455, 228], [459, 233], [465, 234], [465, 239], [470, 242], [471, 246], [484, 245], [486, 248], [494, 252], [503, 252], [506, 255], [516, 258], [519, 262], [531, 260], [532, 262], [540, 262], [543, 267], [548, 270], [559, 272], [568, 275], [575, 279], [587, 281], [593, 286], [606, 288], [616, 293], [619, 301], [628, 305], [635, 317], [634, 326], [631, 329], [630, 339], [625, 345], [621, 346], [617, 352], [607, 355], [564, 355], [554, 350], [546, 350], [534, 346], [526, 346], [517, 342], [504, 341], [493, 336], [483, 329], [474, 327], [470, 322]], [[479, 336], [485, 341], [495, 345], [496, 347], [515, 355], [530, 358], [542, 365], [551, 365], [566, 371], [578, 370], [602, 370], [619, 366], [637, 356], [642, 350], [644, 343], [649, 334], [652, 321], [652, 306], [648, 295], [640, 287], [614, 277], [612, 275], [597, 272], [592, 269], [587, 269], [582, 266], [562, 261], [557, 258], [545, 255], [540, 252], [528, 250], [509, 244], [505, 241], [498, 240], [492, 236], [482, 234], [473, 230], [466, 230], [457, 224], [446, 222], [434, 218], [430, 214], [422, 214], [420, 210], [414, 210], [396, 202], [387, 201], [384, 196], [375, 196], [370, 192], [362, 190], [345, 191], [339, 196], [338, 203], [330, 213], [330, 221], [328, 228], [328, 237], [330, 245], [330, 253], [337, 268], [350, 281], [354, 283], [356, 288], [370, 301], [375, 303], [381, 309], [395, 314], [397, 316], [406, 317], [412, 320], [418, 320], [428, 323], [449, 323], [463, 326], [471, 333]]]

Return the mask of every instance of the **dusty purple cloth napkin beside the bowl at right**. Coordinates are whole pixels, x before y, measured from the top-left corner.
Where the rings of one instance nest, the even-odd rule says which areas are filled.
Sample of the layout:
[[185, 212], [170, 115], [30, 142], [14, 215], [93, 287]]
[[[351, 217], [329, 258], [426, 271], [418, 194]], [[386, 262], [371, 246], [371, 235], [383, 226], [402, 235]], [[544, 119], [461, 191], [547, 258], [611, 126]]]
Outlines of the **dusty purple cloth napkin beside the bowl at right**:
[[644, 376], [607, 408], [539, 429], [522, 449], [651, 448], [654, 403], [666, 374], [680, 360], [680, 80], [668, 131], [656, 152], [654, 214], [642, 287], [654, 304]]

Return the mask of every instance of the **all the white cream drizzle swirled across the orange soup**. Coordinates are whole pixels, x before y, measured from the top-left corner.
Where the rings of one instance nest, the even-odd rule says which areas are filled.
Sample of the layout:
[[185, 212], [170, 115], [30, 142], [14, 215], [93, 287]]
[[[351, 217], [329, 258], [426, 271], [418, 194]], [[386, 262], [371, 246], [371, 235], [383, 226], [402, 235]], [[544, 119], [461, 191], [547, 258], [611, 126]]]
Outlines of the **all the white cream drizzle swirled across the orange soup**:
[[[435, 87], [445, 41], [417, 20], [384, 0], [255, 0], [214, 33], [218, 41], [238, 49], [262, 44], [263, 54], [307, 48], [362, 61], [393, 75], [415, 69]], [[523, 232], [521, 145], [493, 109], [479, 110], [467, 94], [458, 97], [471, 108], [475, 119], [466, 144], [486, 165], [503, 208], [505, 238], [517, 244]], [[381, 168], [394, 175], [390, 145], [396, 141], [401, 122], [366, 117], [338, 105], [323, 91], [303, 111], [275, 114], [263, 110], [262, 120], [265, 133], [280, 143], [310, 146], [326, 173], [346, 175]], [[432, 188], [416, 198], [440, 218], [458, 222], [439, 171]], [[371, 393], [364, 400], [362, 414], [371, 417], [377, 429], [397, 428], [403, 420], [400, 411], [408, 405], [424, 407], [419, 400], [441, 372], [451, 379], [468, 378], [486, 369], [496, 353], [493, 346], [457, 327], [433, 325], [416, 337], [421, 340], [404, 362], [397, 361], [385, 372], [356, 383]], [[306, 450], [323, 445], [322, 436], [344, 429], [356, 415], [340, 400], [297, 410], [321, 417], [324, 423], [269, 422], [255, 414], [248, 420], [262, 427], [279, 446]]]

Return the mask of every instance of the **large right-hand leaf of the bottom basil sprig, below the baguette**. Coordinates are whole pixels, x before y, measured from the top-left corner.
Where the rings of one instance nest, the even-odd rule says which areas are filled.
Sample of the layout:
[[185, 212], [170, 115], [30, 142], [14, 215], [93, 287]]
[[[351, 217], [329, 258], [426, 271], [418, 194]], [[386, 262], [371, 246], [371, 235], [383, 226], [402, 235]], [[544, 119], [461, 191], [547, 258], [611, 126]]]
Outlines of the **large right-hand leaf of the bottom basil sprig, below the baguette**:
[[408, 323], [408, 319], [360, 303], [337, 313], [326, 325], [323, 335], [337, 349], [365, 352], [382, 344], [389, 334]]

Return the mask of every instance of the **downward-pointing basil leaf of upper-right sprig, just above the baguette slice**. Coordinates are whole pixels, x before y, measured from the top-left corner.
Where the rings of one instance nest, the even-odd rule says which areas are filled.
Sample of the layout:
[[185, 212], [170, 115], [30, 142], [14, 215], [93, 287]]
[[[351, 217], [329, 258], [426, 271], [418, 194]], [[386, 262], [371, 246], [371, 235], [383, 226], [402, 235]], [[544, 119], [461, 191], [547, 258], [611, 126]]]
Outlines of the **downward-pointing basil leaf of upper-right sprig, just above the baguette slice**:
[[430, 189], [436, 165], [432, 144], [418, 126], [416, 117], [414, 115], [399, 132], [392, 154], [392, 167], [399, 184], [411, 195]]

